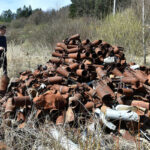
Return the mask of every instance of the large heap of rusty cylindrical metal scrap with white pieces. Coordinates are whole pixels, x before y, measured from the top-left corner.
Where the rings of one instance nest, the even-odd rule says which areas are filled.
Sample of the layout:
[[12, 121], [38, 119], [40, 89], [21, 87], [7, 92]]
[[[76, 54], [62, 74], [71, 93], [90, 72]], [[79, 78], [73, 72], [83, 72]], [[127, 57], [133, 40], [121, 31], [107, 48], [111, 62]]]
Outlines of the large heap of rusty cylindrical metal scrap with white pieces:
[[102, 40], [81, 41], [79, 34], [57, 43], [53, 57], [34, 72], [20, 73], [8, 87], [3, 77], [4, 117], [21, 126], [34, 110], [39, 121], [48, 115], [56, 125], [76, 127], [99, 118], [111, 131], [141, 130], [148, 138], [150, 69], [128, 64], [123, 51]]

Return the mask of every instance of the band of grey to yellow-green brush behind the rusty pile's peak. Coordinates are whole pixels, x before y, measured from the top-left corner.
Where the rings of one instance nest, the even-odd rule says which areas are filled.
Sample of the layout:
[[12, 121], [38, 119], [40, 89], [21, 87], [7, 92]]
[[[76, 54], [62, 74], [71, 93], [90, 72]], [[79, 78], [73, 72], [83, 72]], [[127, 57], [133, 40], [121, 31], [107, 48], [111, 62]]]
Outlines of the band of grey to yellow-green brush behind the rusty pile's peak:
[[[126, 9], [115, 16], [110, 14], [105, 19], [92, 17], [70, 19], [66, 12], [60, 12], [46, 23], [25, 24], [23, 28], [8, 29], [8, 40], [25, 45], [37, 43], [55, 46], [72, 34], [79, 33], [82, 39], [102, 39], [125, 48], [127, 53], [140, 56], [143, 54], [142, 23], [133, 9]], [[46, 18], [45, 18], [46, 19]], [[23, 22], [24, 23], [24, 22]], [[150, 44], [149, 30], [145, 30], [146, 45]]]

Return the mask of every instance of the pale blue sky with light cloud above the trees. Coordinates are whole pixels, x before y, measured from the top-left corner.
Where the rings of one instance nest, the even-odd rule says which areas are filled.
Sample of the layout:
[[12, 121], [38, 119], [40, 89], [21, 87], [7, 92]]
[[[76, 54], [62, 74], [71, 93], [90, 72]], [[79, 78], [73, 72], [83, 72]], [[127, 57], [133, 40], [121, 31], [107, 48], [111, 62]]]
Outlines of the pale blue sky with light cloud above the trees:
[[11, 9], [13, 12], [24, 5], [32, 6], [32, 9], [42, 8], [43, 10], [59, 9], [71, 4], [71, 0], [0, 0], [0, 13], [3, 10]]

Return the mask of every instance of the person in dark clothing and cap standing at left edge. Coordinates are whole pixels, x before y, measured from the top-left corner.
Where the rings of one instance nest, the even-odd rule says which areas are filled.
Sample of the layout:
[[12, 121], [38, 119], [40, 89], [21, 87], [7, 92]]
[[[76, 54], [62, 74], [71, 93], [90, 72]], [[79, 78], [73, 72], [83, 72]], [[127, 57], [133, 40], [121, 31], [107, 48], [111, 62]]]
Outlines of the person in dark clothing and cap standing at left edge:
[[3, 65], [3, 74], [7, 75], [7, 41], [5, 37], [6, 26], [0, 25], [0, 66]]

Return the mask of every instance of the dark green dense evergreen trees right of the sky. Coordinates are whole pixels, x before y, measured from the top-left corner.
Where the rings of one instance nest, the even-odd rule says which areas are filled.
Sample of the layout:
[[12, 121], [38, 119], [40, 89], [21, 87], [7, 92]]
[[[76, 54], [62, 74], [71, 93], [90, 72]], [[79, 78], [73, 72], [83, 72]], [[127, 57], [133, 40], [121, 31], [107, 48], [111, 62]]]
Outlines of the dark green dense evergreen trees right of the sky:
[[[113, 11], [114, 0], [71, 0], [70, 17], [96, 16], [103, 18]], [[116, 9], [124, 9], [133, 0], [117, 0]]]

